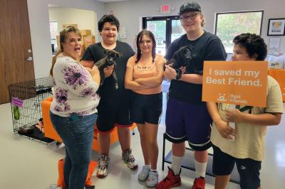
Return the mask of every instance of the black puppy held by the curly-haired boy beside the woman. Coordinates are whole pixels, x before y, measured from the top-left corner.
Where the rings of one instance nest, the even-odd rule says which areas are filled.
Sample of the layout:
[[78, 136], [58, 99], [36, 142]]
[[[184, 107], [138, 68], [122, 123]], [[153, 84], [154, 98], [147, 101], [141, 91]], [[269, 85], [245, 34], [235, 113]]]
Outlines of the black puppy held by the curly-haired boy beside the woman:
[[115, 65], [116, 65], [115, 59], [117, 57], [121, 58], [122, 54], [118, 53], [115, 50], [105, 50], [105, 52], [107, 54], [105, 58], [102, 58], [97, 63], [95, 63], [95, 65], [98, 67], [98, 70], [100, 71], [100, 78], [101, 78], [100, 85], [102, 85], [105, 80], [105, 75], [103, 72], [104, 68], [114, 65], [112, 77], [115, 80], [115, 88], [118, 89], [118, 79], [117, 76], [115, 75]]

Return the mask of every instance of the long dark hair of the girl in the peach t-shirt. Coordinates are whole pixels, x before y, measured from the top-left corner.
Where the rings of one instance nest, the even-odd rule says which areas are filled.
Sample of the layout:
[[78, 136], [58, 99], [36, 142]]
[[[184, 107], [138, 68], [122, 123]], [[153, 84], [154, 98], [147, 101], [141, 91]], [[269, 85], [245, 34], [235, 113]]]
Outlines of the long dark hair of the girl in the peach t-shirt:
[[156, 42], [155, 42], [155, 36], [151, 31], [148, 30], [142, 30], [140, 33], [138, 33], [137, 37], [137, 60], [135, 60], [135, 63], [138, 63], [140, 60], [140, 57], [142, 56], [142, 51], [140, 50], [140, 41], [142, 41], [142, 36], [147, 36], [152, 40], [152, 63], [155, 62], [155, 48], [156, 48]]

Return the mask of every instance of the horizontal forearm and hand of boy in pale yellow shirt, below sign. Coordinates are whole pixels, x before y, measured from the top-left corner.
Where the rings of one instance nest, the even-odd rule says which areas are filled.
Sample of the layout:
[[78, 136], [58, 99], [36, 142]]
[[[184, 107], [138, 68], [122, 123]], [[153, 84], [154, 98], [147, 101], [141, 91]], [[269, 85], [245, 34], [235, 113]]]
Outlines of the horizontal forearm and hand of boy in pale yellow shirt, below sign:
[[281, 113], [244, 114], [239, 109], [227, 109], [227, 120], [235, 123], [248, 123], [260, 126], [278, 125]]

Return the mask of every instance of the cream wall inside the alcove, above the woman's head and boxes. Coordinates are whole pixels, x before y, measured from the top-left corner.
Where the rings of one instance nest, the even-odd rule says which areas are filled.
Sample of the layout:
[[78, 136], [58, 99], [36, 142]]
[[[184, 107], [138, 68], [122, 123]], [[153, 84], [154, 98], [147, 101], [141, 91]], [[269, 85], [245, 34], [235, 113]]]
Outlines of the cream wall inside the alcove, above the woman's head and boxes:
[[[97, 13], [83, 9], [66, 7], [49, 7], [49, 20], [58, 22], [58, 32], [65, 23], [76, 23], [80, 30], [91, 30], [93, 36], [97, 36]], [[59, 33], [58, 33], [59, 34]]]

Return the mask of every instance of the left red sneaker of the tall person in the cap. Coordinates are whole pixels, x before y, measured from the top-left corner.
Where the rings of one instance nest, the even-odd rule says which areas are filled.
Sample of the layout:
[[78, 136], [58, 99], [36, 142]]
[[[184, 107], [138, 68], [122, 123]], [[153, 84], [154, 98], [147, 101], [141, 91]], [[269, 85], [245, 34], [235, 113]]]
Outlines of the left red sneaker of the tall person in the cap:
[[[181, 169], [180, 169], [181, 173]], [[161, 180], [160, 183], [155, 187], [155, 189], [169, 189], [172, 187], [177, 187], [181, 185], [180, 173], [175, 175], [170, 167], [168, 167], [168, 174], [165, 179]]]

